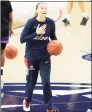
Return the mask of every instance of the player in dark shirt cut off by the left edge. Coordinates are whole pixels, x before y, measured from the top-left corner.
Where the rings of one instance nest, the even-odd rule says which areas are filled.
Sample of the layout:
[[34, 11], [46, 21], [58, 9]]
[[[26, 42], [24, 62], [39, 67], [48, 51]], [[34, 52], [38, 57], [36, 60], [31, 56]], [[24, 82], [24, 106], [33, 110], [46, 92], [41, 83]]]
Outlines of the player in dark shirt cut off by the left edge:
[[1, 82], [3, 83], [3, 68], [5, 63], [4, 49], [8, 43], [9, 36], [13, 34], [13, 10], [10, 1], [1, 1]]

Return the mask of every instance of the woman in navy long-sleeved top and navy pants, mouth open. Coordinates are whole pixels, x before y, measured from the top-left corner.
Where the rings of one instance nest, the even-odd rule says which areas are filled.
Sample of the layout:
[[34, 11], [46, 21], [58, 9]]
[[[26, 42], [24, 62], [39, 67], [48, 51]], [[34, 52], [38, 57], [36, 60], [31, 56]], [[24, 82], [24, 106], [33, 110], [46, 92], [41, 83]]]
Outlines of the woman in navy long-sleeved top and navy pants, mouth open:
[[20, 37], [21, 43], [26, 42], [25, 58], [28, 66], [28, 78], [23, 101], [24, 111], [30, 111], [33, 89], [40, 71], [47, 112], [54, 112], [50, 87], [51, 62], [46, 48], [50, 39], [57, 40], [57, 38], [55, 22], [46, 15], [47, 4], [44, 2], [38, 3], [35, 17], [27, 21]]

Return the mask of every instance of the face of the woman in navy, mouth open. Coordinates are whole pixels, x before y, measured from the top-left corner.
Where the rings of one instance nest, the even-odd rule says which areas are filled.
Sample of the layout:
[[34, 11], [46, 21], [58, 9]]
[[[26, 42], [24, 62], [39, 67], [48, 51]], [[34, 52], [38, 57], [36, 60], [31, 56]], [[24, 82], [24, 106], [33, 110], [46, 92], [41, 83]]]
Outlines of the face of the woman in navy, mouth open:
[[46, 15], [47, 15], [47, 5], [45, 3], [39, 4], [36, 12], [38, 13], [38, 16], [46, 17]]

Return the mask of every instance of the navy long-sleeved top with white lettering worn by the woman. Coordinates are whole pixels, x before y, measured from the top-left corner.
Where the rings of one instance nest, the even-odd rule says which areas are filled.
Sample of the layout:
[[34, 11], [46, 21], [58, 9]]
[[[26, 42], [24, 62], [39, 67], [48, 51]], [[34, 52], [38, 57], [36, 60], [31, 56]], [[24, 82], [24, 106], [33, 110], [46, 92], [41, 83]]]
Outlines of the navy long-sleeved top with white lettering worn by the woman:
[[[37, 35], [37, 26], [44, 24], [46, 24], [45, 34]], [[43, 38], [43, 40], [40, 38]], [[47, 44], [50, 40], [57, 40], [55, 35], [55, 22], [48, 17], [46, 17], [45, 22], [39, 22], [35, 17], [29, 19], [20, 37], [21, 43], [26, 42], [25, 57], [29, 60], [40, 60], [49, 57]]]

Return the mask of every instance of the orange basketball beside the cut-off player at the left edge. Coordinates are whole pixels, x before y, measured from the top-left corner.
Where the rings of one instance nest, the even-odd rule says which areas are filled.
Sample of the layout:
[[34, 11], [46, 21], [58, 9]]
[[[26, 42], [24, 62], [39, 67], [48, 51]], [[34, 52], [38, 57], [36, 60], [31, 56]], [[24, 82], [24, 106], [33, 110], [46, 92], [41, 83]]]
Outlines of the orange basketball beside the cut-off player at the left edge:
[[13, 45], [9, 45], [5, 48], [4, 54], [7, 59], [12, 60], [18, 55], [18, 49]]

